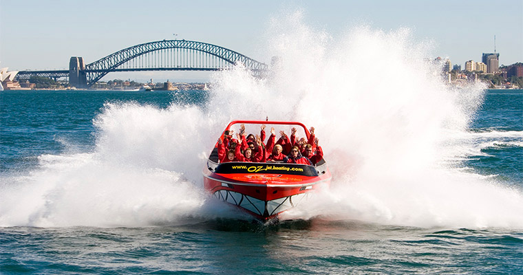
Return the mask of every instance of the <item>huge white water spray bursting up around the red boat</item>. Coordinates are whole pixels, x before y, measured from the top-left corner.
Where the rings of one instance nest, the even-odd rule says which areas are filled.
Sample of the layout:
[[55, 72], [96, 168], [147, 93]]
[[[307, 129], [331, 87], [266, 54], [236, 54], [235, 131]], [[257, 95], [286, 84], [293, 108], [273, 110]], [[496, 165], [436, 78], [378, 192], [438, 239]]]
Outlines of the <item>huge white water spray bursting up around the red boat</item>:
[[332, 38], [300, 12], [272, 21], [268, 36], [266, 60], [277, 56], [271, 74], [215, 74], [204, 109], [106, 104], [93, 152], [43, 155], [39, 168], [1, 186], [0, 226], [234, 217], [206, 199], [201, 169], [229, 121], [268, 116], [316, 127], [334, 176], [331, 192], [284, 218], [523, 228], [520, 190], [448, 166], [467, 151], [453, 137], [467, 135], [482, 87], [445, 87], [425, 59], [430, 43], [407, 29], [368, 26]]

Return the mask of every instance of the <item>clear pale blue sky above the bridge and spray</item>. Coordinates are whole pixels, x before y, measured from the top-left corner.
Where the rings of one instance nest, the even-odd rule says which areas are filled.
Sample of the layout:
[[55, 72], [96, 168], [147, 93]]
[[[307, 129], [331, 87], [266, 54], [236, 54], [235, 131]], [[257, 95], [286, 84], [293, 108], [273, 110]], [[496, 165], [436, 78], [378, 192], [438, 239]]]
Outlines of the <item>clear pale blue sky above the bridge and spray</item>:
[[269, 19], [296, 9], [312, 28], [334, 37], [359, 23], [412, 28], [414, 39], [435, 41], [437, 56], [462, 66], [493, 52], [495, 35], [500, 64], [523, 62], [523, 0], [0, 0], [0, 67], [65, 69], [70, 56], [92, 63], [125, 47], [173, 39], [173, 33], [259, 60], [255, 49]]

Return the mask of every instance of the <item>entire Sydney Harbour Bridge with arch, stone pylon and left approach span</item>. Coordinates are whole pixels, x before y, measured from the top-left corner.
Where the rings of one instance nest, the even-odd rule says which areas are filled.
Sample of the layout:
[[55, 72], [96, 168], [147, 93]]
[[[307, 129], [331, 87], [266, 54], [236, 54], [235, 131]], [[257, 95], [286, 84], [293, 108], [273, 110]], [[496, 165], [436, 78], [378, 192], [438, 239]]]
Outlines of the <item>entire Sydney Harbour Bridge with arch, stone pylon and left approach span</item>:
[[72, 56], [69, 70], [20, 71], [17, 78], [68, 77], [71, 86], [88, 88], [109, 72], [218, 71], [231, 69], [237, 64], [243, 64], [257, 76], [268, 69], [264, 63], [217, 45], [163, 40], [128, 47], [87, 65], [82, 57]]

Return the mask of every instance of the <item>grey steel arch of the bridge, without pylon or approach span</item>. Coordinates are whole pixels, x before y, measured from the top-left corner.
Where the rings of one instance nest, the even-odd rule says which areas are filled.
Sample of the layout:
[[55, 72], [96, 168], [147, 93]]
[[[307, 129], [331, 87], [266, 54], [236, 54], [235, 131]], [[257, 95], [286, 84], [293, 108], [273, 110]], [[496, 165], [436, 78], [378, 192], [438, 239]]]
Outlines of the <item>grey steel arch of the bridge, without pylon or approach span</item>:
[[[87, 87], [91, 87], [98, 80], [103, 78], [109, 72], [123, 71], [124, 69], [118, 69], [120, 65], [123, 65], [134, 58], [148, 54], [150, 52], [157, 52], [167, 49], [185, 49], [194, 50], [201, 52], [202, 54], [209, 54], [216, 58], [222, 59], [224, 62], [231, 65], [242, 63], [246, 68], [252, 70], [254, 74], [261, 74], [268, 66], [264, 63], [255, 61], [253, 58], [239, 54], [233, 50], [228, 50], [225, 47], [217, 45], [202, 43], [197, 41], [186, 41], [186, 40], [164, 40], [154, 41], [149, 43], [143, 43], [140, 45], [134, 45], [126, 49], [115, 52], [101, 58], [98, 61], [85, 65]], [[211, 67], [171, 67], [171, 68], [151, 68], [151, 70], [220, 70], [223, 67], [211, 66]], [[127, 69], [126, 71], [142, 71], [147, 70], [145, 68]]]

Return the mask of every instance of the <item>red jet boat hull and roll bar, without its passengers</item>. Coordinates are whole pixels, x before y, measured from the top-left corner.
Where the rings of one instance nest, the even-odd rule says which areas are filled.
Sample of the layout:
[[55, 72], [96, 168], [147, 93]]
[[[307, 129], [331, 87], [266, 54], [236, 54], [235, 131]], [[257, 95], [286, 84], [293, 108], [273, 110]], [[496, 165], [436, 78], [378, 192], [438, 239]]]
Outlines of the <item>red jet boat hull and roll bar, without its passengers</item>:
[[[245, 126], [296, 127], [303, 129], [308, 139], [310, 132], [300, 122], [235, 120], [220, 136], [235, 124]], [[259, 128], [257, 128], [259, 129]], [[203, 170], [204, 187], [216, 199], [231, 203], [261, 221], [306, 201], [310, 195], [329, 186], [331, 175], [325, 159], [315, 166], [282, 162], [225, 162], [220, 163], [215, 144], [207, 166]]]

